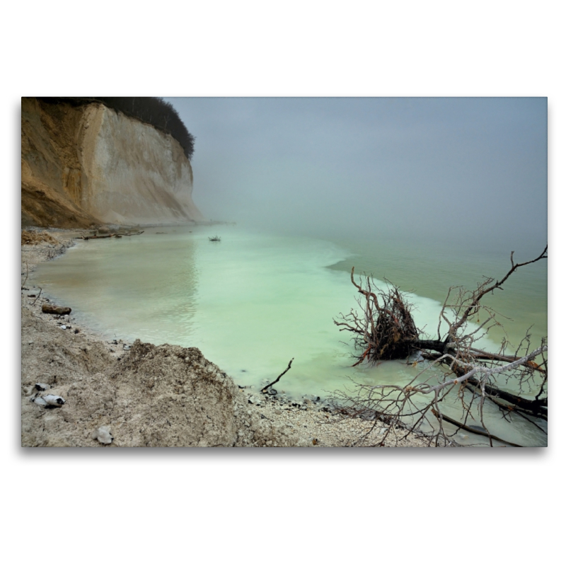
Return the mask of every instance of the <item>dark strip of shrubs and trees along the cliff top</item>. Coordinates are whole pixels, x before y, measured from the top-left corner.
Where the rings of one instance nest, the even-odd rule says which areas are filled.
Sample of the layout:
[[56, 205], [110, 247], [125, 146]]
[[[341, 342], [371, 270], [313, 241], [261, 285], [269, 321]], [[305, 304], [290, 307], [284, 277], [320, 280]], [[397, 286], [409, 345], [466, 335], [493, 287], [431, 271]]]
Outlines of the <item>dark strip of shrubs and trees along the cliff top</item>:
[[190, 134], [180, 119], [177, 110], [163, 98], [154, 96], [91, 96], [91, 97], [37, 97], [47, 103], [67, 103], [74, 106], [100, 102], [103, 105], [151, 124], [161, 132], [171, 134], [181, 145], [185, 156], [192, 158], [195, 151], [195, 137]]

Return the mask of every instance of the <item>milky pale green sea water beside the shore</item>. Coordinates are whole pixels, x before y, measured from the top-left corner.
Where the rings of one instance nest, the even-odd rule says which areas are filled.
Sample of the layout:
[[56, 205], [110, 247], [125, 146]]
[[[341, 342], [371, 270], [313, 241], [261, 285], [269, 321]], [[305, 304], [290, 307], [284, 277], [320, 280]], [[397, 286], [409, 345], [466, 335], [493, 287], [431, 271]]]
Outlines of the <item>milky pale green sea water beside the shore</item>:
[[[216, 234], [221, 242], [209, 241]], [[352, 368], [351, 345], [342, 342], [348, 337], [333, 323], [357, 306], [352, 266], [412, 291], [417, 326], [434, 334], [447, 289], [474, 287], [482, 275], [502, 277], [509, 251], [386, 238], [329, 241], [240, 226], [168, 227], [132, 238], [81, 241], [40, 265], [32, 284], [108, 338], [198, 347], [242, 385], [259, 388], [294, 358], [278, 390], [324, 397], [351, 387], [350, 378], [403, 383], [417, 371], [400, 362]], [[526, 246], [516, 260], [541, 251]], [[547, 334], [546, 275], [545, 261], [527, 266], [489, 297], [490, 306], [512, 318], [501, 320], [514, 345], [530, 325], [533, 343]], [[497, 329], [481, 345], [495, 350], [503, 335]], [[500, 435], [517, 444], [546, 444], [545, 435], [525, 422], [494, 427], [494, 434], [500, 427]]]

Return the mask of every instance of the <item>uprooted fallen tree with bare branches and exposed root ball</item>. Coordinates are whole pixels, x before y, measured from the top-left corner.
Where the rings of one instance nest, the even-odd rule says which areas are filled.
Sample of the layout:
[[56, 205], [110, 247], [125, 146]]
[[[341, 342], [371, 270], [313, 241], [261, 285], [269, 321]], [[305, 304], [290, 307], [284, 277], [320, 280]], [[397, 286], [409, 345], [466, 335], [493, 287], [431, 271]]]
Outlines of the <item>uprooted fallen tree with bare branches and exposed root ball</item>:
[[[346, 407], [349, 416], [373, 415], [371, 429], [387, 424], [382, 443], [393, 427], [403, 425], [408, 432], [427, 430], [431, 443], [437, 446], [455, 444], [454, 435], [460, 429], [482, 434], [490, 446], [494, 440], [517, 446], [490, 433], [486, 402], [497, 407], [504, 419], [517, 415], [545, 433], [541, 420], [548, 419], [546, 339], [533, 347], [527, 331], [511, 354], [507, 340], [498, 352], [486, 352], [477, 344], [490, 328], [500, 325], [493, 308], [481, 303], [485, 295], [501, 290], [519, 268], [547, 259], [547, 252], [548, 246], [538, 257], [522, 263], [514, 261], [512, 252], [511, 268], [502, 279], [486, 278], [471, 291], [451, 287], [439, 313], [436, 337], [424, 335], [416, 327], [412, 305], [398, 287], [386, 282], [380, 289], [371, 277], [356, 282], [352, 267], [351, 280], [360, 295], [361, 313], [352, 309], [334, 322], [352, 336], [357, 352], [354, 366], [406, 359], [419, 371], [404, 385], [354, 382], [353, 392], [335, 392], [335, 403]], [[532, 391], [537, 391], [536, 395], [529, 395]], [[445, 403], [444, 408], [454, 408], [456, 401], [461, 420], [443, 412], [440, 403], [447, 399], [452, 403]], [[456, 429], [447, 430], [445, 422]]]

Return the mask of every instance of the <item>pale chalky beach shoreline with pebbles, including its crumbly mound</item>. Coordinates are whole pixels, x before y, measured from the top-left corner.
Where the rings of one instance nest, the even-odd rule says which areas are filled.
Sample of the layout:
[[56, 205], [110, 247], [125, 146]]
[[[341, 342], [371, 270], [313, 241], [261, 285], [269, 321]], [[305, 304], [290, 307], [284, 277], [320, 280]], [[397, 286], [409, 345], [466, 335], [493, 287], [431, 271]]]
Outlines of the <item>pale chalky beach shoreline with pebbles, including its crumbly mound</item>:
[[[89, 232], [25, 230], [45, 241], [21, 246], [22, 282], [26, 265], [33, 272]], [[379, 421], [345, 418], [309, 395], [284, 400], [236, 386], [196, 348], [108, 340], [76, 325], [72, 312], [42, 313], [49, 301], [37, 291], [21, 293], [22, 446], [328, 447], [353, 446], [364, 434], [358, 446], [381, 443], [386, 425]], [[49, 385], [47, 393], [60, 395], [64, 405], [46, 409], [30, 402], [38, 395], [35, 383]], [[99, 440], [100, 427], [110, 429], [110, 444]], [[396, 429], [384, 446], [427, 446], [407, 434]]]

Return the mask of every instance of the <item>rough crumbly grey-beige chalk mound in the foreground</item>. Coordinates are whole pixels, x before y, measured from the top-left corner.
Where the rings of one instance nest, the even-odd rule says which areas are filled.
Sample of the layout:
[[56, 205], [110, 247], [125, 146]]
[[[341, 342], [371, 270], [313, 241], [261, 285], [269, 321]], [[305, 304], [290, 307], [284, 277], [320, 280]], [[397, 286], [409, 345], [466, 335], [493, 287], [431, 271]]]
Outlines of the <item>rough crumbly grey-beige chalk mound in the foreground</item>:
[[[236, 386], [197, 348], [136, 340], [115, 366], [112, 432], [129, 446], [233, 446]], [[117, 419], [122, 422], [117, 422]]]

